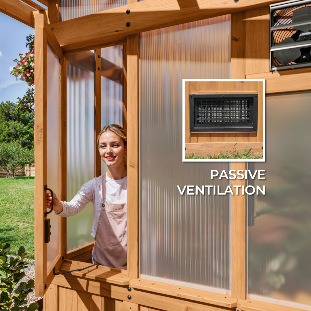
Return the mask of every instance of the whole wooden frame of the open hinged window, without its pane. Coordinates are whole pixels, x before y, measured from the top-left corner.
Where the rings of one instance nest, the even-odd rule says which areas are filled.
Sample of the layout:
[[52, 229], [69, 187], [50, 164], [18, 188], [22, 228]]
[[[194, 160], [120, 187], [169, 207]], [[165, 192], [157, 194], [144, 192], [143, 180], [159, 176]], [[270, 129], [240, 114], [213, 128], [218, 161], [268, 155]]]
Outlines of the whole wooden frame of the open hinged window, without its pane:
[[[59, 158], [59, 194], [60, 197], [66, 197], [66, 87], [62, 86], [62, 81], [66, 81], [66, 59], [62, 49], [60, 48], [53, 32], [51, 31], [45, 14], [35, 14], [35, 45], [36, 49], [36, 65], [37, 75], [35, 79], [35, 161], [37, 173], [35, 174], [35, 295], [43, 296], [47, 286], [54, 278], [53, 269], [59, 269], [63, 264], [66, 256], [66, 239], [63, 232], [66, 230], [66, 220], [61, 217], [59, 219], [59, 255], [55, 258], [52, 266], [47, 271], [47, 245], [44, 241], [44, 220], [46, 218], [46, 89], [47, 89], [47, 73], [46, 73], [46, 57], [47, 42], [58, 56], [60, 62], [60, 87], [59, 87], [59, 142], [60, 142], [60, 158]], [[63, 231], [64, 230], [64, 231]]]

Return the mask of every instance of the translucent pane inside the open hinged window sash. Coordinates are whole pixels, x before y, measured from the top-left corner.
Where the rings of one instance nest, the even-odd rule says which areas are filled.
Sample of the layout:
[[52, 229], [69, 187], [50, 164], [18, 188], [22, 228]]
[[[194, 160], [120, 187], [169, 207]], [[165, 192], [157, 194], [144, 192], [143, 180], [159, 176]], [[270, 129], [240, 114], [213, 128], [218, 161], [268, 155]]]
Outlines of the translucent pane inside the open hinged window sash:
[[[59, 59], [49, 44], [46, 47], [46, 180], [47, 186], [58, 197], [59, 191]], [[59, 254], [59, 217], [48, 214], [51, 239], [46, 244], [46, 268]]]

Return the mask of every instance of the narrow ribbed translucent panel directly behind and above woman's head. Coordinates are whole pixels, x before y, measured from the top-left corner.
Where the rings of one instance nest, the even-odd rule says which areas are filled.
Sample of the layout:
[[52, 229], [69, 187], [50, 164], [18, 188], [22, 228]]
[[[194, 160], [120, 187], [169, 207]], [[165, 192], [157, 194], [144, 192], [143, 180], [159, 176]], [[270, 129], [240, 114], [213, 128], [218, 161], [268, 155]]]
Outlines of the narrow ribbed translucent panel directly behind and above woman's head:
[[[101, 49], [101, 57], [124, 69], [123, 45]], [[110, 124], [123, 126], [123, 83], [123, 80], [116, 82], [106, 77], [101, 77], [101, 128]], [[101, 160], [101, 174], [106, 172], [107, 165]]]

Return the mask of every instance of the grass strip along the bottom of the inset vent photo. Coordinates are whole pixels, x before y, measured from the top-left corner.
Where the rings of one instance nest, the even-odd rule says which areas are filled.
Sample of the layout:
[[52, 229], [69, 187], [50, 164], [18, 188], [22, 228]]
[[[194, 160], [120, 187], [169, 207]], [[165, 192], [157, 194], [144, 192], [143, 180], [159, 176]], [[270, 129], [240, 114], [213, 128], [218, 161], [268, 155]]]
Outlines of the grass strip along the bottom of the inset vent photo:
[[212, 156], [210, 153], [208, 154], [207, 157], [204, 156], [204, 153], [202, 156], [200, 156], [199, 152], [197, 154], [190, 153], [188, 156], [185, 155], [185, 159], [191, 159], [191, 160], [204, 160], [204, 159], [208, 159], [208, 160], [224, 160], [224, 159], [248, 159], [248, 160], [253, 160], [253, 159], [262, 159], [262, 155], [260, 154], [254, 154], [251, 152], [252, 148], [249, 149], [244, 149], [243, 152], [241, 152], [240, 150], [233, 150], [233, 153], [230, 151], [230, 153], [228, 153], [228, 151], [226, 152], [226, 154], [222, 153], [220, 155], [214, 155]]

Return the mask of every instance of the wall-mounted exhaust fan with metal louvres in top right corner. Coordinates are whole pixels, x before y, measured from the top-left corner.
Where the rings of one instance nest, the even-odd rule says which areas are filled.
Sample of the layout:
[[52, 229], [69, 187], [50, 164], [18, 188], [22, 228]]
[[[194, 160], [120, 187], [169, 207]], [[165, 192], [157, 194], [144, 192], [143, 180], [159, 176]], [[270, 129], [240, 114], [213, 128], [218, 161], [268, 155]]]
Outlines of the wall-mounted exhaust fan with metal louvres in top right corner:
[[311, 66], [311, 1], [270, 5], [271, 70]]

